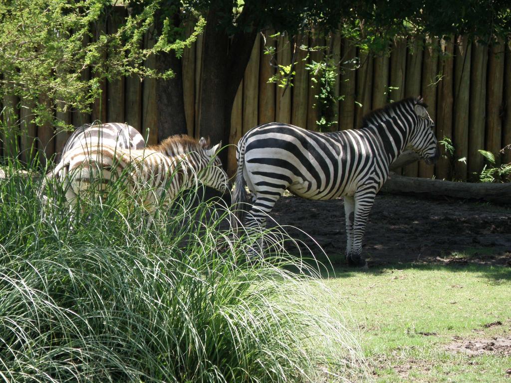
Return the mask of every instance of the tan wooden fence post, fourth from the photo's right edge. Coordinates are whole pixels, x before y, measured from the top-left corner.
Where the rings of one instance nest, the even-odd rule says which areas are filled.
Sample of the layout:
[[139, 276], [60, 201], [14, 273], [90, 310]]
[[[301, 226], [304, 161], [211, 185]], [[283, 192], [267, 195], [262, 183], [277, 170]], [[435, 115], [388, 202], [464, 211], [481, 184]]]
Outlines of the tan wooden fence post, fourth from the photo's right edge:
[[[469, 156], [469, 107], [472, 44], [458, 36], [454, 47], [454, 178], [467, 180]], [[458, 161], [465, 158], [466, 161]]]

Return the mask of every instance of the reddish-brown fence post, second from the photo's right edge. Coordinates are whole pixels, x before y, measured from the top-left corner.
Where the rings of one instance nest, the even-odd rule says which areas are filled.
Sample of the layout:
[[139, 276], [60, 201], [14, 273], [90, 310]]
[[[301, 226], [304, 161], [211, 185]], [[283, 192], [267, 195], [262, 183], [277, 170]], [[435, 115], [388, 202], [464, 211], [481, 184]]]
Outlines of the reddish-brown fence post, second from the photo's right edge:
[[500, 164], [499, 152], [503, 147], [501, 145], [501, 112], [504, 88], [504, 56], [504, 41], [499, 39], [490, 48], [486, 94], [486, 150], [495, 154], [497, 165]]

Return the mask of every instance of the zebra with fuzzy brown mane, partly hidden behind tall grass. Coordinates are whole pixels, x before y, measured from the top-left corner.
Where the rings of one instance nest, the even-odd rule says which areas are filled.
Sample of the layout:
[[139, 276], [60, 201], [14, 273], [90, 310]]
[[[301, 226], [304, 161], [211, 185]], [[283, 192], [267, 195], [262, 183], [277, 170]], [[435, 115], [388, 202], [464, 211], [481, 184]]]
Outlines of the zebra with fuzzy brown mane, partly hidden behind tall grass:
[[171, 136], [143, 150], [105, 145], [94, 139], [84, 143], [83, 148], [76, 146], [64, 153], [47, 174], [47, 180], [59, 180], [71, 207], [96, 181], [101, 189], [107, 189], [112, 181], [121, 179], [130, 194], [142, 196], [140, 202], [149, 213], [160, 202], [166, 207], [180, 190], [197, 181], [221, 192], [227, 188], [228, 177], [217, 156], [221, 143], [209, 148], [204, 138], [197, 141], [187, 135]]

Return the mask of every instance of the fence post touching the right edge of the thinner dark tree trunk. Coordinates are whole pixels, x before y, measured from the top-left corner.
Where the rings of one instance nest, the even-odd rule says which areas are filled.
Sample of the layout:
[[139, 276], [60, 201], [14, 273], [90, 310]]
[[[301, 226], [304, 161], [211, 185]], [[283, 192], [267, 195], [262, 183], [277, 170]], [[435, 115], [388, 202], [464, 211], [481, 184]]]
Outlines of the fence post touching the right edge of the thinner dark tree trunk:
[[[195, 20], [187, 22], [186, 35], [190, 36], [195, 28]], [[183, 70], [183, 101], [184, 115], [187, 119], [188, 135], [193, 136], [195, 130], [195, 45], [194, 42], [189, 48], [183, 51], [182, 70]], [[227, 143], [227, 142], [225, 142]]]

